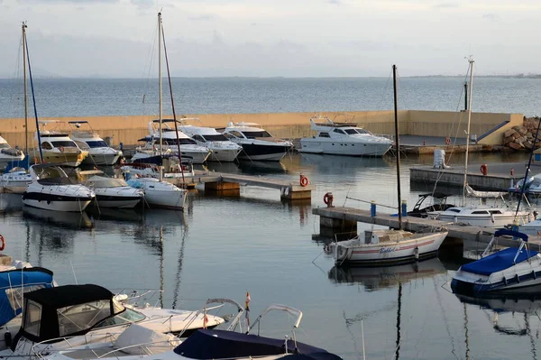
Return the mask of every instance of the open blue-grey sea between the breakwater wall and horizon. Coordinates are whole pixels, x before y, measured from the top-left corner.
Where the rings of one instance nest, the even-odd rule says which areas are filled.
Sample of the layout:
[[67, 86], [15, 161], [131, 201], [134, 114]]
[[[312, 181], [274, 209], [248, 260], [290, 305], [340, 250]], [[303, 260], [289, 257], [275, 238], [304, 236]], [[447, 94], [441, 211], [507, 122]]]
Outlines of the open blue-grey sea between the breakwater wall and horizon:
[[[401, 78], [399, 107], [455, 111], [464, 78]], [[169, 94], [164, 82], [164, 94]], [[475, 78], [473, 111], [541, 115], [541, 79]], [[38, 115], [150, 115], [155, 79], [34, 80]], [[173, 78], [179, 114], [325, 112], [392, 108], [390, 78]], [[23, 82], [0, 79], [0, 117], [23, 116]], [[144, 104], [143, 104], [144, 96]], [[170, 113], [165, 96], [164, 111]]]

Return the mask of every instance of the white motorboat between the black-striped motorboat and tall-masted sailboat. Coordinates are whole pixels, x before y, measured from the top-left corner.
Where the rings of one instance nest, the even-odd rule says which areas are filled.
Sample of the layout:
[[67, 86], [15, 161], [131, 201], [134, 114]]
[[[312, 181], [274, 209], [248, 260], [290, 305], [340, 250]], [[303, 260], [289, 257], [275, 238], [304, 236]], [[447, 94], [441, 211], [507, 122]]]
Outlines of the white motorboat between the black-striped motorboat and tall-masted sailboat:
[[[103, 171], [98, 172], [103, 174]], [[132, 188], [124, 179], [96, 174], [89, 177], [84, 184], [96, 194], [99, 208], [135, 208], [144, 197], [142, 189]]]

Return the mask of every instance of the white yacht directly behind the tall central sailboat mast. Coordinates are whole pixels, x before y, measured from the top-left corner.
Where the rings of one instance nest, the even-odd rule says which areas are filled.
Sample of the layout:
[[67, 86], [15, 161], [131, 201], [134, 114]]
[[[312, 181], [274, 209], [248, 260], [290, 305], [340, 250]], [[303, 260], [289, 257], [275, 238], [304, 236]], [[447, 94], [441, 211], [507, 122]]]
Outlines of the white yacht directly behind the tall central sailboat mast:
[[[170, 124], [172, 124], [172, 126], [170, 126]], [[206, 146], [198, 145], [195, 140], [191, 139], [187, 134], [184, 134], [180, 130], [177, 130], [179, 136], [179, 141], [177, 141], [174, 125], [175, 120], [173, 119], [162, 120], [162, 149], [160, 149], [160, 120], [151, 121], [149, 123], [149, 136], [139, 139], [139, 141], [145, 142], [145, 145], [137, 148], [137, 152], [133, 155], [132, 161], [134, 162], [138, 159], [159, 155], [160, 153], [179, 153], [180, 145], [180, 152], [183, 158], [187, 158], [196, 164], [206, 162], [206, 159], [210, 155], [210, 149]]]

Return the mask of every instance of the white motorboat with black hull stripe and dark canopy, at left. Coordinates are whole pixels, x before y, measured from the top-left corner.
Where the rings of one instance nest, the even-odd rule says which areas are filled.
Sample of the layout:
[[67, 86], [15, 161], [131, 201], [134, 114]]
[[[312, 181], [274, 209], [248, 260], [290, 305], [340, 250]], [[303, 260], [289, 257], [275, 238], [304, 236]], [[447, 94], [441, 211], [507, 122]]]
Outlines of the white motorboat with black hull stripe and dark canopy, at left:
[[32, 165], [30, 173], [35, 180], [23, 193], [23, 203], [29, 207], [81, 212], [95, 198], [92, 190], [70, 179], [59, 166]]

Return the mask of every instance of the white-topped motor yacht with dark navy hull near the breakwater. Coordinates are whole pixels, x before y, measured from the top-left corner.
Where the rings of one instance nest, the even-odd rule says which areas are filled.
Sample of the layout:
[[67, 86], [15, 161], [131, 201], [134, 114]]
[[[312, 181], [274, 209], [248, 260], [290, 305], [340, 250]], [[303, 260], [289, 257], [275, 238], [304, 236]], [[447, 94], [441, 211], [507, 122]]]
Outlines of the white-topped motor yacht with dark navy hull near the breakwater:
[[229, 140], [243, 146], [237, 156], [239, 160], [280, 162], [293, 149], [293, 143], [272, 137], [259, 124], [229, 123], [219, 130]]

